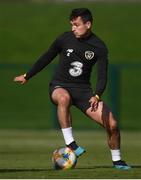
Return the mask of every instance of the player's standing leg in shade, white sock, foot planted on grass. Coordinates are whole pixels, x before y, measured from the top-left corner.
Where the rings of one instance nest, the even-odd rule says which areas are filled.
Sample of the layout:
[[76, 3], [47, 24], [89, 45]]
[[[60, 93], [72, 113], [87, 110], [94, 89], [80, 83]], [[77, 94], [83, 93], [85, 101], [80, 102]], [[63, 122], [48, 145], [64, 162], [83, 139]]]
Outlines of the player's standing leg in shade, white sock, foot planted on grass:
[[123, 170], [130, 169], [131, 167], [128, 166], [125, 161], [121, 160], [120, 131], [117, 126], [117, 121], [108, 106], [101, 101], [96, 111], [91, 111], [91, 108], [89, 108], [86, 111], [86, 115], [106, 129], [114, 167]]

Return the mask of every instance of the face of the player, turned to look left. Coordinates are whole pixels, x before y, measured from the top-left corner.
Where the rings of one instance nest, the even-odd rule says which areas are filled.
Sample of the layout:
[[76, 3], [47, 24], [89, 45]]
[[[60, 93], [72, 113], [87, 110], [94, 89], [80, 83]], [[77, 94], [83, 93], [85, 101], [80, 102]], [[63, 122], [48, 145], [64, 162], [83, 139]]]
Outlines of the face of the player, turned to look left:
[[86, 23], [84, 23], [80, 16], [73, 19], [70, 23], [72, 26], [72, 32], [74, 33], [76, 38], [87, 36], [91, 30], [91, 22], [87, 21]]

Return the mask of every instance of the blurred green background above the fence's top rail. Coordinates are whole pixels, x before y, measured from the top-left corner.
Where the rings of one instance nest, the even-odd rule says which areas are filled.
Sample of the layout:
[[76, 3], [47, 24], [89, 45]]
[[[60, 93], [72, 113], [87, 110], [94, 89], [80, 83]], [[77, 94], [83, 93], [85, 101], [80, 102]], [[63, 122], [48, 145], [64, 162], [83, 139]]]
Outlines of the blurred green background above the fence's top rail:
[[0, 61], [33, 63], [62, 32], [73, 8], [88, 7], [94, 32], [108, 45], [111, 63], [139, 62], [140, 3], [0, 2]]

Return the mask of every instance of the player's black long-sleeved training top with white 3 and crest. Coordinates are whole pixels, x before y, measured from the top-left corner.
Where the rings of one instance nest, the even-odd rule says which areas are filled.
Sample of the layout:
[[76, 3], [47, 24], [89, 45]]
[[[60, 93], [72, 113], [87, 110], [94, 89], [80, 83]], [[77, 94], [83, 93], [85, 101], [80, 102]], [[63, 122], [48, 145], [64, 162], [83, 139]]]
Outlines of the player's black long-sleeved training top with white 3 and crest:
[[102, 95], [107, 83], [108, 50], [94, 33], [76, 38], [73, 32], [59, 36], [26, 74], [30, 79], [59, 54], [59, 64], [51, 83], [67, 87], [89, 87], [93, 65], [97, 63], [98, 79], [95, 93]]

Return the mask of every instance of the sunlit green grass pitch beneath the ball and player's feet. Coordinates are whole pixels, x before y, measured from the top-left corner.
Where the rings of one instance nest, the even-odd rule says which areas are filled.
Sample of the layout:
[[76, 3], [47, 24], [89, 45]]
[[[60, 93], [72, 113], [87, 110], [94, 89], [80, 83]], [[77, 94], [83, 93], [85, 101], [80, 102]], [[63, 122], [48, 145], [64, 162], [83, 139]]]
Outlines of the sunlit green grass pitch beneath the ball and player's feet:
[[112, 167], [104, 131], [75, 131], [86, 148], [75, 169], [53, 169], [52, 152], [64, 146], [60, 131], [1, 130], [0, 178], [141, 178], [141, 133], [122, 132], [123, 157], [132, 166], [123, 171]]

